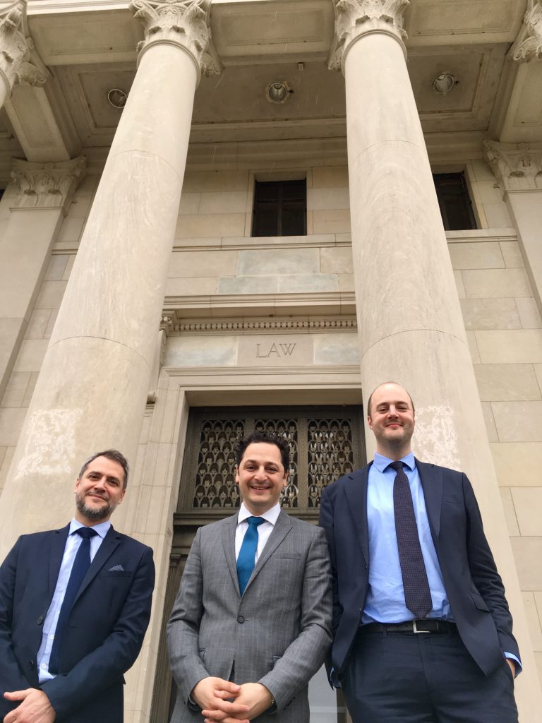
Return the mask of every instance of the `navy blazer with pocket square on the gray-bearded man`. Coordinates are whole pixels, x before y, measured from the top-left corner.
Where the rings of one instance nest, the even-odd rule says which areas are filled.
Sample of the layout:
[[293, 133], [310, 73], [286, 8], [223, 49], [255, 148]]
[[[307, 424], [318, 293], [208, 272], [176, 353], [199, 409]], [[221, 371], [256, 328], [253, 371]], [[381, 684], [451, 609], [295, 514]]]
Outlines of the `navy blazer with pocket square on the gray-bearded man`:
[[0, 720], [7, 690], [42, 688], [58, 723], [120, 723], [124, 672], [150, 618], [152, 549], [111, 527], [69, 616], [59, 675], [38, 686], [36, 656], [69, 526], [22, 535], [0, 567]]

